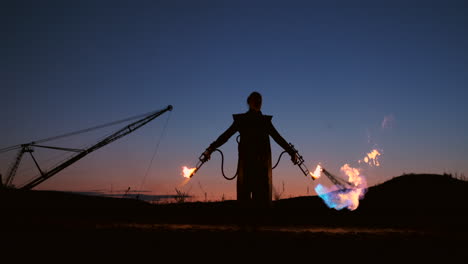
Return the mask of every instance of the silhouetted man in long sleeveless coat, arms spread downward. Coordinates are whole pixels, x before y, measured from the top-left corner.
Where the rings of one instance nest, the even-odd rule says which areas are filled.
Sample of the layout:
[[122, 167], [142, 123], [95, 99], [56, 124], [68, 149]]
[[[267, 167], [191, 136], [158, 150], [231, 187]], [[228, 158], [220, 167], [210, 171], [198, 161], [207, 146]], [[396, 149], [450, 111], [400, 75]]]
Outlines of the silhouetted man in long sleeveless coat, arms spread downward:
[[249, 111], [233, 115], [232, 125], [203, 153], [206, 159], [211, 153], [239, 132], [239, 161], [237, 164], [237, 200], [244, 205], [269, 207], [271, 205], [272, 168], [271, 136], [297, 163], [296, 153], [271, 123], [272, 116], [263, 115], [262, 96], [253, 92], [247, 98]]

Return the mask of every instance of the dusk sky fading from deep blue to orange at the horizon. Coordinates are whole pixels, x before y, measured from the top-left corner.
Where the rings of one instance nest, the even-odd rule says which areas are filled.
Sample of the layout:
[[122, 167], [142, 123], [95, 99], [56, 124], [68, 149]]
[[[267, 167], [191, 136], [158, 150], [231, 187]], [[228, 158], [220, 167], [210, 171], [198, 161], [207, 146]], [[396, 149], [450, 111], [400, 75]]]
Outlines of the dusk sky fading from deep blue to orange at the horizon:
[[[170, 115], [38, 187], [170, 194], [181, 166], [194, 166], [259, 91], [263, 113], [311, 170], [318, 162], [333, 172], [357, 167], [378, 148], [381, 166], [361, 165], [371, 184], [410, 172], [468, 173], [466, 2], [307, 2], [2, 3], [0, 148], [172, 104]], [[385, 117], [393, 121], [382, 127]], [[50, 145], [90, 144], [110, 131]], [[281, 150], [272, 146], [276, 160]], [[234, 137], [222, 150], [232, 174]], [[14, 154], [1, 154], [3, 174]], [[48, 164], [56, 153], [36, 154]], [[235, 181], [222, 178], [219, 162], [214, 154], [183, 188], [234, 198]], [[18, 183], [35, 173], [27, 159], [22, 166]], [[273, 174], [284, 196], [328, 184], [305, 178], [288, 159]]]

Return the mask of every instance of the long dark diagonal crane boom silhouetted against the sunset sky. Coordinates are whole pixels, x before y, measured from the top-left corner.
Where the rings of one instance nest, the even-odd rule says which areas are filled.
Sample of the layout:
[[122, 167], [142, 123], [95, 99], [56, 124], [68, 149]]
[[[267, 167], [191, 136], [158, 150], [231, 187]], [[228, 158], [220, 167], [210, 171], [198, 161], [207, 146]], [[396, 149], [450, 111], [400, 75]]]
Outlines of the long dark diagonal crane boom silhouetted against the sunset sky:
[[[30, 189], [36, 187], [37, 185], [39, 185], [42, 182], [46, 181], [47, 179], [54, 176], [58, 172], [62, 171], [66, 167], [68, 167], [68, 166], [72, 165], [73, 163], [77, 162], [78, 160], [82, 159], [84, 156], [88, 155], [89, 153], [91, 153], [91, 152], [93, 152], [95, 150], [98, 150], [98, 149], [100, 149], [100, 148], [102, 148], [102, 147], [116, 141], [117, 139], [132, 133], [133, 131], [137, 130], [138, 128], [140, 128], [140, 127], [142, 127], [144, 125], [146, 125], [147, 123], [151, 122], [153, 119], [155, 119], [158, 116], [164, 114], [165, 112], [172, 111], [172, 108], [173, 108], [172, 105], [169, 105], [163, 110], [160, 110], [158, 112], [149, 114], [149, 115], [147, 115], [147, 116], [145, 116], [145, 117], [143, 117], [143, 118], [141, 118], [141, 119], [139, 119], [139, 120], [125, 126], [125, 127], [123, 127], [122, 129], [120, 129], [117, 132], [113, 133], [112, 135], [104, 138], [103, 140], [99, 141], [98, 143], [94, 144], [93, 146], [78, 152], [76, 155], [74, 155], [71, 158], [65, 160], [64, 162], [57, 165], [53, 169], [51, 169], [51, 170], [49, 170], [47, 172], [41, 173], [41, 175], [34, 178], [30, 182], [26, 183], [20, 189], [30, 190]], [[34, 146], [34, 142], [32, 142], [31, 145]]]

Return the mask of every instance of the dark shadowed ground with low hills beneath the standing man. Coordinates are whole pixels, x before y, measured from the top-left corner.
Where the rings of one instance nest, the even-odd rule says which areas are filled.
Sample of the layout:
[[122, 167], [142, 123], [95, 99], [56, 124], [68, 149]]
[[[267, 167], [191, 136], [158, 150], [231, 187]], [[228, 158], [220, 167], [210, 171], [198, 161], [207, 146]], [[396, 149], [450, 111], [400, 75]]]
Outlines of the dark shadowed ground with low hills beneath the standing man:
[[[49, 259], [468, 261], [468, 182], [405, 175], [371, 187], [355, 211], [318, 197], [271, 210], [234, 201], [151, 205], [49, 191], [0, 192], [2, 250]], [[15, 252], [15, 253], [13, 253]], [[28, 252], [28, 254], [22, 254]], [[18, 254], [19, 253], [19, 254]]]

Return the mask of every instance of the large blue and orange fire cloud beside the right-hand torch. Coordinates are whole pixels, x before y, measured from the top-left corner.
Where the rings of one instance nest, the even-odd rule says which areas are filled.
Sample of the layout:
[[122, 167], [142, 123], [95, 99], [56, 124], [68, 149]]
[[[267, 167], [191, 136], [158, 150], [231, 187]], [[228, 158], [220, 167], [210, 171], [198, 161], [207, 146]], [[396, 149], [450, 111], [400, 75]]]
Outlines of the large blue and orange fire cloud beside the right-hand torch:
[[347, 181], [354, 187], [346, 189], [337, 189], [337, 187], [327, 188], [321, 184], [315, 187], [315, 191], [329, 208], [341, 210], [348, 208], [353, 211], [359, 206], [359, 200], [364, 198], [367, 190], [367, 182], [359, 169], [345, 164], [341, 167], [341, 172], [348, 178]]

